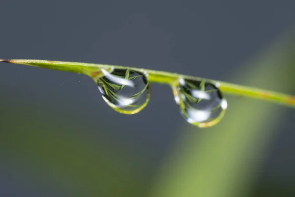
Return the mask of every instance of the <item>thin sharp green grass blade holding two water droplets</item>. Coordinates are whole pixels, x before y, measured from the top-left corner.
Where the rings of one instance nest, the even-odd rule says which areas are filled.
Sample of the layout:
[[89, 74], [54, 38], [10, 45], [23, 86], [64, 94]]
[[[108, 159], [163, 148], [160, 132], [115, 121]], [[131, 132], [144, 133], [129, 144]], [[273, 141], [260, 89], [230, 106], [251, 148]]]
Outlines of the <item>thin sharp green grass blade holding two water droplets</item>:
[[207, 81], [215, 84], [226, 94], [239, 95], [254, 99], [263, 99], [266, 101], [275, 102], [278, 104], [284, 104], [291, 107], [295, 107], [295, 97], [287, 94], [282, 94], [274, 91], [267, 91], [259, 88], [252, 88], [247, 86], [236, 85], [232, 83], [226, 83], [222, 81], [216, 81], [212, 79], [205, 79], [194, 76], [187, 76], [178, 73], [170, 73], [164, 71], [150, 70], [144, 68], [126, 67], [126, 66], [113, 66], [113, 65], [101, 65], [101, 64], [88, 64], [77, 62], [60, 62], [60, 61], [47, 61], [47, 60], [0, 60], [0, 62], [21, 64], [27, 66], [35, 66], [41, 68], [70, 71], [81, 74], [86, 74], [94, 80], [103, 75], [101, 68], [110, 70], [113, 68], [131, 69], [148, 74], [149, 82], [167, 84], [172, 87], [177, 86], [180, 78], [192, 79], [199, 81]]

